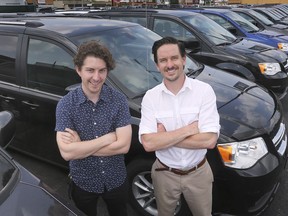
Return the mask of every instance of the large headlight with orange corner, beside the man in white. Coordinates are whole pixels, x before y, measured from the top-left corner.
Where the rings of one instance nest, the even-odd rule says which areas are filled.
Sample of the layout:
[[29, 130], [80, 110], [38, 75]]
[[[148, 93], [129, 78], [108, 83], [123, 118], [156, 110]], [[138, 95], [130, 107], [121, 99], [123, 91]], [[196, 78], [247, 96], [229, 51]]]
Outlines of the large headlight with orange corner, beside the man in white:
[[262, 138], [218, 144], [217, 148], [225, 166], [235, 169], [247, 169], [252, 167], [268, 152]]

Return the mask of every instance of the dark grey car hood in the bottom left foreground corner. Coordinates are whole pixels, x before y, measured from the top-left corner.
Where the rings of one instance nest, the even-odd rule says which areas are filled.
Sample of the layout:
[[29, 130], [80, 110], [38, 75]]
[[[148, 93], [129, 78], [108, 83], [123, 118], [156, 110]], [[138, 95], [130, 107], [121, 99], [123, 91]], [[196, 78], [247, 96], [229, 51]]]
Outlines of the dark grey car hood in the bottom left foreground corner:
[[20, 179], [5, 202], [1, 204], [0, 215], [84, 215], [58, 195], [52, 195], [49, 192], [52, 190], [24, 167], [18, 163], [17, 166], [20, 170]]

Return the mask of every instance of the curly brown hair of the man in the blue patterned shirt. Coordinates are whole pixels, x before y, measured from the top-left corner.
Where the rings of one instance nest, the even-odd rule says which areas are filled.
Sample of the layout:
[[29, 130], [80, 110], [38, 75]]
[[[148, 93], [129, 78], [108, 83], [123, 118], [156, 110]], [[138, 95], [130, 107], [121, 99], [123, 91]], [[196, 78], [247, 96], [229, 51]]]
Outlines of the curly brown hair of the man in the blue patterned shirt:
[[100, 44], [98, 41], [87, 41], [79, 46], [78, 52], [73, 59], [75, 66], [81, 69], [87, 56], [94, 56], [105, 61], [108, 71], [115, 68], [115, 61], [112, 54], [107, 47]]

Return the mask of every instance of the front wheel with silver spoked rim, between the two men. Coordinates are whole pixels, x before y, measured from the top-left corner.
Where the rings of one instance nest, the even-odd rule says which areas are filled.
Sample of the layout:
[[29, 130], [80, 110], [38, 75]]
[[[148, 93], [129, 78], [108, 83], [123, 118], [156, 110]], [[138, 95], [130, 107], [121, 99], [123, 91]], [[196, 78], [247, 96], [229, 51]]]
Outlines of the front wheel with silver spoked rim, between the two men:
[[[151, 179], [153, 162], [151, 159], [137, 159], [127, 166], [130, 204], [140, 215], [145, 216], [158, 215]], [[174, 215], [190, 215], [183, 197], [179, 200]]]

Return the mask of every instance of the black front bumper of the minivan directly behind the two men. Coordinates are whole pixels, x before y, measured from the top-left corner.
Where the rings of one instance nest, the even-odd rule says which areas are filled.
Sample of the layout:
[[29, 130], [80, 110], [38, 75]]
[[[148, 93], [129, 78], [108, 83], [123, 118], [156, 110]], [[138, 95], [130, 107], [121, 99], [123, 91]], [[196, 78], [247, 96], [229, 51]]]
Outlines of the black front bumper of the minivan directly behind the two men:
[[225, 168], [221, 178], [214, 176], [214, 215], [260, 215], [269, 207], [287, 166], [287, 136], [276, 150], [250, 169]]

